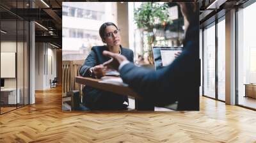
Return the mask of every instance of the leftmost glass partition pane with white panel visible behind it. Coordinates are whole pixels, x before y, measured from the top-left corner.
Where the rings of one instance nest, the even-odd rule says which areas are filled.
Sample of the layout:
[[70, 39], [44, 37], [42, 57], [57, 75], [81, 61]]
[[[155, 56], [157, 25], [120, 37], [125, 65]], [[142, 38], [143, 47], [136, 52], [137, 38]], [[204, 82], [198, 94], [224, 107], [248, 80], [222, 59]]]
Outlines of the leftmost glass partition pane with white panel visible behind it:
[[[1, 21], [1, 113], [17, 108], [17, 21]], [[4, 32], [3, 32], [4, 31]], [[18, 94], [19, 95], [19, 94]]]

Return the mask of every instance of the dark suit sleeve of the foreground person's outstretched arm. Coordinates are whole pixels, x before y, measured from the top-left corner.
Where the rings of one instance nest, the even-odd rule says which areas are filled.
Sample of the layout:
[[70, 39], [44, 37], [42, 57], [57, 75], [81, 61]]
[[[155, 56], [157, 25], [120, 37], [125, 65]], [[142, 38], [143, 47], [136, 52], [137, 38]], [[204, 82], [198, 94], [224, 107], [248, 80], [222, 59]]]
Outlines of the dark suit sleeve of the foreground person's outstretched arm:
[[179, 101], [179, 98], [193, 102], [190, 99], [197, 96], [193, 92], [199, 87], [196, 81], [200, 79], [196, 74], [200, 74], [197, 64], [195, 57], [182, 54], [172, 64], [157, 72], [132, 63], [125, 64], [120, 69], [120, 76], [129, 87], [155, 105], [169, 105]]

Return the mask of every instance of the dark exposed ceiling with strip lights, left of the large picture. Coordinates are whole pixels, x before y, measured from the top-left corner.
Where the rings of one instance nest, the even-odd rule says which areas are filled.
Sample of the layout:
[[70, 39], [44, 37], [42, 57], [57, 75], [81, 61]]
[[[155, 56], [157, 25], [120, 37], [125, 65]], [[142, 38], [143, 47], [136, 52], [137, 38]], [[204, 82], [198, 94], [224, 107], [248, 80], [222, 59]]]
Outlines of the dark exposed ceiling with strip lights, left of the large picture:
[[4, 37], [9, 37], [10, 39], [15, 37], [13, 35], [18, 35], [17, 37], [22, 35], [21, 27], [18, 27], [16, 32], [16, 20], [18, 20], [18, 26], [21, 24], [19, 20], [34, 20], [36, 22], [36, 42], [51, 42], [54, 45], [61, 47], [61, 3], [61, 0], [32, 0], [30, 3], [28, 0], [1, 0], [1, 27], [5, 31], [8, 31]]

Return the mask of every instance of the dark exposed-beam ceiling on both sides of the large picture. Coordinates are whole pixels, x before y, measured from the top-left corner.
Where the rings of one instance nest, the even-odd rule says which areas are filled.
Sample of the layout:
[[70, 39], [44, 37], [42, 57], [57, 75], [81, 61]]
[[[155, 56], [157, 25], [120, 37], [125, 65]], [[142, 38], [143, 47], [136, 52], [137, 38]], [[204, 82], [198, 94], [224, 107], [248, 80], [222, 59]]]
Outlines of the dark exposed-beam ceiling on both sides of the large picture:
[[[184, 0], [173, 0], [173, 2], [177, 1]], [[186, 2], [188, 1], [197, 1], [199, 3], [200, 25], [204, 25], [207, 22], [209, 23], [209, 19], [221, 10], [234, 8], [234, 6], [239, 6], [248, 0], [215, 0], [217, 3], [214, 0], [186, 0]], [[13, 25], [13, 20], [35, 20], [38, 23], [35, 24], [36, 41], [56, 43], [61, 47], [62, 2], [67, 2], [67, 0], [30, 0], [30, 4], [29, 0], [1, 0], [1, 20], [6, 21], [4, 24], [8, 25], [10, 29], [15, 29], [16, 25]]]

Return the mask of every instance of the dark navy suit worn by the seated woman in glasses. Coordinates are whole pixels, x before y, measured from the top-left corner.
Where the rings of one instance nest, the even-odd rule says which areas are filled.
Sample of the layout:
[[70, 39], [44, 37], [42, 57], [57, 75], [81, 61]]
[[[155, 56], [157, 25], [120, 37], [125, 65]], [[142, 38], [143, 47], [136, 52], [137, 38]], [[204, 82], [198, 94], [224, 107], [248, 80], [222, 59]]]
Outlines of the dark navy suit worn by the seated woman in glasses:
[[[121, 54], [125, 56], [129, 61], [133, 63], [133, 52], [130, 49], [120, 46]], [[92, 47], [92, 52], [85, 59], [83, 66], [80, 68], [80, 75], [83, 77], [90, 77], [89, 69], [93, 66], [103, 64], [108, 61], [110, 57], [102, 55], [104, 50], [108, 50], [106, 46]], [[119, 110], [124, 109], [127, 105], [123, 105], [124, 102], [128, 103], [127, 96], [102, 91], [90, 86], [86, 86], [83, 89], [83, 103], [86, 107], [92, 110]]]

